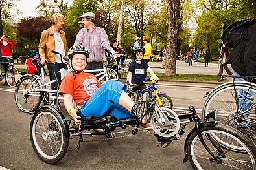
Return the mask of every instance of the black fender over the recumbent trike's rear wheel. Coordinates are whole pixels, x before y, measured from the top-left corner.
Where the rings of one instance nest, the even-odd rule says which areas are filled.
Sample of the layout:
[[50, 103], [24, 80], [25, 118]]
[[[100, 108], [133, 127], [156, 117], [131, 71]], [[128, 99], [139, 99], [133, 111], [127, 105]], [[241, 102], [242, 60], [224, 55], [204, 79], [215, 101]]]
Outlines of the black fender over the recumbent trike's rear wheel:
[[58, 116], [58, 118], [59, 118], [60, 120], [62, 120], [62, 121], [60, 122], [60, 124], [61, 124], [63, 127], [65, 127], [65, 128], [64, 128], [65, 137], [66, 137], [66, 138], [69, 138], [69, 137], [70, 137], [70, 134], [69, 134], [69, 125], [67, 125], [67, 120], [65, 119], [65, 116], [62, 114], [62, 112], [58, 111], [58, 109], [56, 109], [56, 107], [52, 107], [51, 105], [42, 105], [42, 106], [38, 107], [38, 109], [36, 109], [35, 114], [37, 114], [38, 111], [40, 111], [41, 109], [50, 109], [50, 110], [52, 110], [52, 111], [56, 114], [56, 116]]

